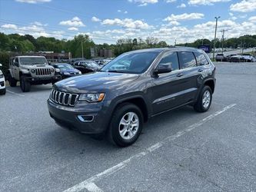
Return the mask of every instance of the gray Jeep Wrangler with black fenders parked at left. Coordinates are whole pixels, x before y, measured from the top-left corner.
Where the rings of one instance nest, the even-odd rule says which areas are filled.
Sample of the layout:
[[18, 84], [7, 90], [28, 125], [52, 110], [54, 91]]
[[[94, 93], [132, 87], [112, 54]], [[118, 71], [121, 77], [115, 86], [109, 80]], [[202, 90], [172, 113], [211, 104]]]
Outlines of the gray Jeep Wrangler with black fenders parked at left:
[[20, 81], [23, 92], [30, 91], [32, 84], [54, 84], [62, 77], [55, 74], [55, 68], [48, 65], [43, 56], [15, 56], [10, 58], [8, 81], [15, 87]]

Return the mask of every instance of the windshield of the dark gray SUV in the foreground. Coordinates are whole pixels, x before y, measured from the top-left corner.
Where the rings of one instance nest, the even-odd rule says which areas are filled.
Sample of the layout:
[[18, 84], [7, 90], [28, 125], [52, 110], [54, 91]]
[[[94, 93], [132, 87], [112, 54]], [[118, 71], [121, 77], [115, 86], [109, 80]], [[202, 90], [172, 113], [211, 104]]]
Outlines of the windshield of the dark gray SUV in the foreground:
[[145, 72], [158, 56], [158, 52], [126, 53], [110, 61], [101, 71], [141, 74]]

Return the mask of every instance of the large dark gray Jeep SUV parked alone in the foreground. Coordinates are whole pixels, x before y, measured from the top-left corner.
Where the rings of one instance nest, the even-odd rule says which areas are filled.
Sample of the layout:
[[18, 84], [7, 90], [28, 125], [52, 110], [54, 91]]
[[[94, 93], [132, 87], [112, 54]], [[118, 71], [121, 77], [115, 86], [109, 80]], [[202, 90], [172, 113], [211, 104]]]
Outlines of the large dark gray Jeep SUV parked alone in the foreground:
[[185, 104], [208, 111], [215, 67], [195, 48], [130, 51], [92, 74], [58, 81], [48, 111], [62, 127], [108, 133], [121, 147], [133, 144], [148, 118]]

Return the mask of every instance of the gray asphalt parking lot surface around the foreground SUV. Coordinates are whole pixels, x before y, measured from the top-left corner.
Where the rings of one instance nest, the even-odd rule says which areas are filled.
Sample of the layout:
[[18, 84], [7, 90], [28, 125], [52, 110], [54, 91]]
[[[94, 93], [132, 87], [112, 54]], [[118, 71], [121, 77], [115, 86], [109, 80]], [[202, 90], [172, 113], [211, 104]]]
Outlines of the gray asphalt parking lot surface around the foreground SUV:
[[1, 191], [256, 191], [256, 63], [216, 63], [211, 108], [152, 118], [131, 147], [59, 127], [51, 85], [0, 97]]

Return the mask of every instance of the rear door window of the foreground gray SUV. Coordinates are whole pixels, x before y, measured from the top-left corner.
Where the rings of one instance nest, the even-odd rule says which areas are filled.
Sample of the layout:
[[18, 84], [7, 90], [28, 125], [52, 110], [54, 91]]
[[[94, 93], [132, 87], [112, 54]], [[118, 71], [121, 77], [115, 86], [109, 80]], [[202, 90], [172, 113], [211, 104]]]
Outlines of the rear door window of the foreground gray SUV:
[[178, 53], [180, 59], [181, 69], [182, 68], [192, 68], [197, 66], [197, 62], [194, 58], [194, 54], [188, 51], [181, 51]]

